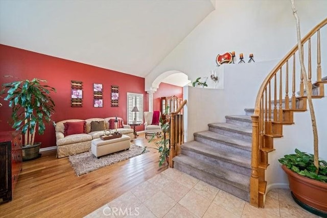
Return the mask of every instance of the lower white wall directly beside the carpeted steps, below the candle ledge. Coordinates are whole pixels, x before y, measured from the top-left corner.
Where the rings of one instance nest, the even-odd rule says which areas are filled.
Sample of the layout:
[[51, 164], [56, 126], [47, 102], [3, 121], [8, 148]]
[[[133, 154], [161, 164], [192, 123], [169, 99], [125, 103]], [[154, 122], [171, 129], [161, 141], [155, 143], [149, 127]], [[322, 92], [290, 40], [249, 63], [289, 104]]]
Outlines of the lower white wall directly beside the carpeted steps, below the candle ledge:
[[[207, 124], [225, 122], [225, 115], [243, 114], [245, 108], [254, 108], [256, 94], [276, 61], [227, 64], [220, 67], [223, 89], [184, 86], [185, 141], [194, 139], [193, 133], [208, 130]], [[223, 74], [223, 77], [221, 76]]]

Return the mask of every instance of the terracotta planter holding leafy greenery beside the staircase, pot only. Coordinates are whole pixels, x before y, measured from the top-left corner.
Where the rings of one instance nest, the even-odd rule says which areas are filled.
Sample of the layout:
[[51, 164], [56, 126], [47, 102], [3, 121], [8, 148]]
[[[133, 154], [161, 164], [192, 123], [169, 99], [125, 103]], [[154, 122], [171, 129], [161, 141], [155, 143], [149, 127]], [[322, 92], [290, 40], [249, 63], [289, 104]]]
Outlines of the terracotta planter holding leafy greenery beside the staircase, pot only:
[[316, 213], [318, 215], [327, 215], [327, 183], [301, 176], [285, 165], [282, 165], [282, 168], [288, 176], [295, 202], [310, 212], [315, 213], [306, 206], [318, 210], [317, 212], [320, 212], [320, 214]]

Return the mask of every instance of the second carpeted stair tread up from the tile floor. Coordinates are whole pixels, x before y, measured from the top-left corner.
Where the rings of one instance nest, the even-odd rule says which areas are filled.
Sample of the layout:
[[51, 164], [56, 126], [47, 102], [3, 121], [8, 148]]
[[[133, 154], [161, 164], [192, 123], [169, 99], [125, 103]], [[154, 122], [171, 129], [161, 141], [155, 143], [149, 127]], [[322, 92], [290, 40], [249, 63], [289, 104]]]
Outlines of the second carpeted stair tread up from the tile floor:
[[190, 150], [199, 154], [203, 154], [208, 157], [212, 157], [215, 159], [222, 159], [226, 162], [230, 162], [236, 165], [244, 166], [251, 168], [251, 159], [232, 154], [231, 152], [227, 152], [221, 149], [214, 148], [212, 146], [209, 146], [207, 144], [201, 143], [199, 141], [190, 141], [185, 142], [182, 144], [182, 149]]

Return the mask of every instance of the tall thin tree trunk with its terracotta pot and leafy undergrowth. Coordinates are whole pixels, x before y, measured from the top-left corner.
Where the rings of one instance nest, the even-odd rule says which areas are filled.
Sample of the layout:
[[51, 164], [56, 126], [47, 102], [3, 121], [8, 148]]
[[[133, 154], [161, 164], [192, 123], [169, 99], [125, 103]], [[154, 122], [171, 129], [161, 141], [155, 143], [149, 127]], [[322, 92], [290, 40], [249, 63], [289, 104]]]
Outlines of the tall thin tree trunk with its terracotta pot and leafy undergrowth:
[[327, 217], [327, 162], [318, 159], [318, 133], [312, 103], [312, 88], [309, 86], [307, 72], [303, 63], [300, 25], [294, 0], [291, 0], [291, 3], [296, 20], [301, 74], [307, 90], [311, 115], [314, 154], [307, 154], [296, 149], [295, 154], [285, 155], [284, 158], [278, 161], [283, 164], [282, 168], [288, 176], [292, 197], [295, 202], [312, 213]]

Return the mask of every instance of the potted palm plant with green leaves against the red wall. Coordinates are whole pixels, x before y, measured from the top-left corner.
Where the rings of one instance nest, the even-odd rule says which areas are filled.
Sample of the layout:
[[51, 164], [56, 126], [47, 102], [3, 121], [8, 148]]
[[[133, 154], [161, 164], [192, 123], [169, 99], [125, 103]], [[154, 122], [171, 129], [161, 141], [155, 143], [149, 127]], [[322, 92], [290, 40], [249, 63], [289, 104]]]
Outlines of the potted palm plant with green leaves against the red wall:
[[38, 134], [43, 134], [44, 121], [50, 122], [54, 112], [55, 103], [50, 92], [56, 92], [56, 89], [42, 85], [41, 82], [46, 81], [33, 79], [5, 83], [0, 93], [6, 94], [5, 100], [9, 101], [9, 107], [12, 109], [11, 120], [9, 120], [12, 128], [25, 134], [23, 160], [39, 156], [40, 142], [34, 142], [36, 127]]

